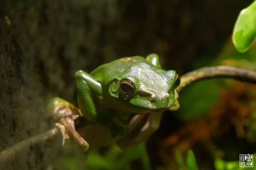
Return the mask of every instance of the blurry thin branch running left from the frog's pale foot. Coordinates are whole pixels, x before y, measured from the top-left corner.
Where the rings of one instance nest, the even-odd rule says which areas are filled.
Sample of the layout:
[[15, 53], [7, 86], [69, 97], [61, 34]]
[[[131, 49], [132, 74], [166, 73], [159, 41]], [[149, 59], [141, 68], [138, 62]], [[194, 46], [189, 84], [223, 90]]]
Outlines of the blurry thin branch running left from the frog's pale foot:
[[41, 141], [46, 141], [49, 138], [56, 136], [58, 132], [59, 132], [59, 129], [57, 127], [54, 127], [51, 130], [48, 130], [47, 132], [33, 136], [31, 138], [27, 138], [22, 142], [15, 144], [14, 146], [11, 146], [9, 148], [6, 148], [5, 150], [2, 150], [0, 152], [0, 163], [6, 162], [16, 154], [20, 153], [22, 150], [28, 149], [32, 144], [36, 144]]

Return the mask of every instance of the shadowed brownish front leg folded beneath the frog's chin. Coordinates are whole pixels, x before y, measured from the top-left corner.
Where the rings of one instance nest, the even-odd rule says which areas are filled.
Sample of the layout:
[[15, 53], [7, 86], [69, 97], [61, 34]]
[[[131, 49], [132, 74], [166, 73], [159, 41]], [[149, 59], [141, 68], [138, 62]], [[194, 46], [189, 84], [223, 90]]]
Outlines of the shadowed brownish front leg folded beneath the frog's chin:
[[[139, 124], [138, 121], [142, 121], [144, 117], [144, 115], [136, 115], [134, 117], [134, 120], [131, 121], [130, 127], [137, 126], [133, 124]], [[147, 117], [146, 123], [144, 123], [138, 131], [132, 132], [125, 136], [124, 138], [122, 138], [121, 140], [119, 140], [118, 145], [121, 148], [129, 148], [146, 140], [151, 134], [153, 134], [159, 128], [161, 118], [162, 113], [150, 113], [149, 116]], [[135, 119], [138, 119], [138, 121]]]

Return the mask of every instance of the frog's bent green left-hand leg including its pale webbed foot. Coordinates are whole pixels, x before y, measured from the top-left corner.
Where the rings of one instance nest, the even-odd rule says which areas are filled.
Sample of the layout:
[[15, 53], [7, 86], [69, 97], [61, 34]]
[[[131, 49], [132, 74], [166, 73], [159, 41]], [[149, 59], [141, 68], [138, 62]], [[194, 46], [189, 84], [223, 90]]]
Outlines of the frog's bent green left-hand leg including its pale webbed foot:
[[80, 109], [60, 98], [52, 99], [48, 108], [50, 112], [53, 113], [54, 119], [60, 121], [60, 123], [57, 123], [57, 126], [62, 132], [63, 141], [69, 138], [69, 134], [78, 144], [82, 145], [84, 151], [86, 151], [89, 148], [89, 144], [76, 132], [74, 119], [84, 116], [89, 121], [97, 121], [97, 112], [92, 93], [96, 95], [97, 93], [101, 94], [101, 85], [84, 71], [77, 71], [75, 77], [77, 99]]

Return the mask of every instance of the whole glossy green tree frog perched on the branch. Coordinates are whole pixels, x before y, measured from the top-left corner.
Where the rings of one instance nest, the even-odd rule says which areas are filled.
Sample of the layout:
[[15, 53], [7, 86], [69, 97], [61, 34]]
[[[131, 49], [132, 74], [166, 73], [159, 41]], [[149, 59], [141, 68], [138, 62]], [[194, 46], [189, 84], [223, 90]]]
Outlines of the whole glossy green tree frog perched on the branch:
[[[64, 139], [72, 136], [87, 150], [89, 144], [122, 147], [146, 140], [158, 127], [163, 111], [177, 109], [180, 85], [176, 71], [164, 71], [159, 57], [124, 57], [99, 66], [90, 74], [75, 73], [78, 107], [52, 99], [49, 110]], [[88, 123], [74, 127], [74, 119]]]

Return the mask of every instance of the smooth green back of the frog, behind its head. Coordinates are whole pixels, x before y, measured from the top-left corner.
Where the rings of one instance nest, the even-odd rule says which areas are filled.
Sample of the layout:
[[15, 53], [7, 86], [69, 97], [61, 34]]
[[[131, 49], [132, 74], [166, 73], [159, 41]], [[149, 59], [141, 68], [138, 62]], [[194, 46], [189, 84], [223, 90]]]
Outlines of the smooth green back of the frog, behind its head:
[[101, 83], [104, 80], [111, 79], [112, 77], [118, 77], [118, 75], [122, 75], [125, 72], [130, 71], [132, 66], [140, 63], [146, 63], [154, 67], [154, 65], [149, 63], [144, 57], [123, 57], [110, 63], [100, 65], [94, 69], [90, 75]]

